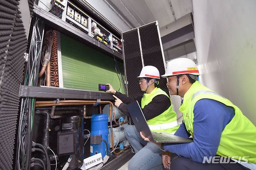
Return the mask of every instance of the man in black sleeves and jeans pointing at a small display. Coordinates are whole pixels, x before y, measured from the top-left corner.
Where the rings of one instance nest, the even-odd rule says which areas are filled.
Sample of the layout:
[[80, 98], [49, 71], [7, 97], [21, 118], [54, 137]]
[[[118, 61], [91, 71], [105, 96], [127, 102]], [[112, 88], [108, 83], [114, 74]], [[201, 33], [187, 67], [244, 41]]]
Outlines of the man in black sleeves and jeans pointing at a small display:
[[[138, 78], [140, 89], [144, 94], [135, 98], [116, 92], [109, 85], [110, 89], [107, 92], [114, 94], [115, 106], [129, 115], [126, 104], [137, 100], [152, 131], [174, 134], [179, 128], [177, 115], [172, 109], [170, 97], [166, 92], [156, 87], [160, 79], [158, 69], [154, 66], [144, 66]], [[163, 169], [162, 153], [159, 146], [144, 141], [134, 125], [127, 126], [124, 129], [124, 135], [136, 153], [128, 164], [129, 170]]]

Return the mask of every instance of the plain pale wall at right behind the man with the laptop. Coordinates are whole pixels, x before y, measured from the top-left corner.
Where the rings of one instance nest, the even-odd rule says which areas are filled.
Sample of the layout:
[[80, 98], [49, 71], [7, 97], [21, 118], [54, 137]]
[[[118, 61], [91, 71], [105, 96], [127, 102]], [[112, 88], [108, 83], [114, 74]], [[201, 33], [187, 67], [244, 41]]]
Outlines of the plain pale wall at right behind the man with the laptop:
[[193, 0], [200, 82], [256, 125], [256, 1]]

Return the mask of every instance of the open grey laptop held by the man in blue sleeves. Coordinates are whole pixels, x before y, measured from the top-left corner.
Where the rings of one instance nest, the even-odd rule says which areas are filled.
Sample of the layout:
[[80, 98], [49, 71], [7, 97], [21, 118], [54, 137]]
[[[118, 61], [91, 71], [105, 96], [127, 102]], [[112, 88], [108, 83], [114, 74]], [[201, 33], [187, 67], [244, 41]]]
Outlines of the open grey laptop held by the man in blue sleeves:
[[189, 143], [193, 142], [184, 137], [168, 134], [165, 132], [152, 132], [147, 125], [146, 118], [140, 108], [139, 102], [135, 101], [127, 105], [127, 109], [138, 132], [147, 137], [150, 141], [158, 143]]

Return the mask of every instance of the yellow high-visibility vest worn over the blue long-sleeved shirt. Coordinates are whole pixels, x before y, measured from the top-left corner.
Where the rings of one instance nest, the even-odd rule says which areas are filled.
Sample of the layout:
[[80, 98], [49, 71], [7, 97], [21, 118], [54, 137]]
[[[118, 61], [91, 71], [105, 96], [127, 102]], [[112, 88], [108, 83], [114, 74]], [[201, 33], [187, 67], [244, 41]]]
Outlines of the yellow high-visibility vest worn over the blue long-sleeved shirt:
[[[240, 160], [242, 161], [256, 163], [256, 127], [231, 101], [203, 86], [198, 81], [193, 83], [186, 92], [183, 98], [183, 103], [179, 108], [183, 113], [183, 120], [187, 131], [194, 137], [193, 110], [195, 103], [200, 99], [213, 99], [225, 104], [226, 106], [232, 107], [235, 111], [235, 116], [226, 125], [221, 134], [216, 154], [237, 160], [239, 160], [240, 156]], [[245, 158], [241, 158], [243, 156], [245, 156]], [[247, 156], [249, 156], [249, 158]]]

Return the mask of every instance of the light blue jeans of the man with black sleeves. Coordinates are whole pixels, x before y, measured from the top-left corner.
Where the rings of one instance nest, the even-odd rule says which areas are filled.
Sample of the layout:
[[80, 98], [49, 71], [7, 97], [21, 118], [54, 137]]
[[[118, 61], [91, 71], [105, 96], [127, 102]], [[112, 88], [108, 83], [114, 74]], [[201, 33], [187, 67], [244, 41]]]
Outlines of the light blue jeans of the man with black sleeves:
[[134, 125], [124, 128], [124, 135], [132, 145], [135, 155], [128, 164], [129, 170], [163, 170], [160, 147], [144, 141]]

